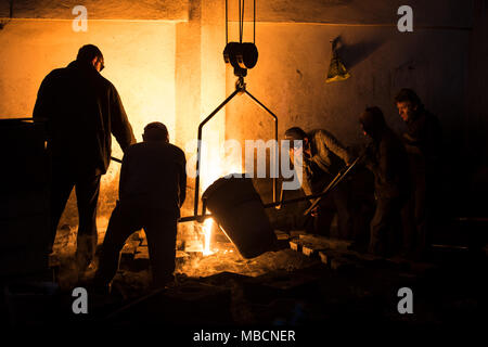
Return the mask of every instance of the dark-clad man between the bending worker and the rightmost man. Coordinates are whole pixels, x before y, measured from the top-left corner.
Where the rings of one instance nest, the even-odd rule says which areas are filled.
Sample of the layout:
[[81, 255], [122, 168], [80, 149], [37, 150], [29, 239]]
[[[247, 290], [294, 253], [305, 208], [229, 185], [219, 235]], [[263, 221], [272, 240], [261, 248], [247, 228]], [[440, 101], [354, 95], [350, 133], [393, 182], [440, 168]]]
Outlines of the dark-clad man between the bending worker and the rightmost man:
[[374, 175], [376, 198], [369, 252], [391, 256], [400, 250], [401, 208], [411, 194], [409, 162], [403, 144], [388, 128], [378, 107], [367, 108], [359, 120], [364, 134], [372, 139], [364, 158]]

